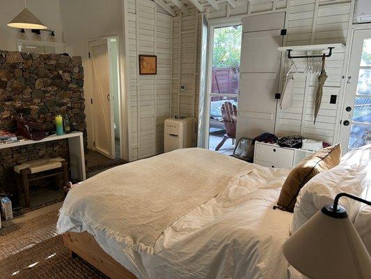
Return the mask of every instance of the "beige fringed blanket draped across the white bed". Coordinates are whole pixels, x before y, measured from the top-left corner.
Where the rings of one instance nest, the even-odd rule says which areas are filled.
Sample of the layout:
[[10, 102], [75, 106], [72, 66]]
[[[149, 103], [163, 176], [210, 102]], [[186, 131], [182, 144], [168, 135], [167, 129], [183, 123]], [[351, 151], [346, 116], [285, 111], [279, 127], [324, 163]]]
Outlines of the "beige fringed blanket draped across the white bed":
[[180, 149], [93, 176], [70, 190], [61, 214], [152, 254], [164, 229], [253, 168], [213, 151]]

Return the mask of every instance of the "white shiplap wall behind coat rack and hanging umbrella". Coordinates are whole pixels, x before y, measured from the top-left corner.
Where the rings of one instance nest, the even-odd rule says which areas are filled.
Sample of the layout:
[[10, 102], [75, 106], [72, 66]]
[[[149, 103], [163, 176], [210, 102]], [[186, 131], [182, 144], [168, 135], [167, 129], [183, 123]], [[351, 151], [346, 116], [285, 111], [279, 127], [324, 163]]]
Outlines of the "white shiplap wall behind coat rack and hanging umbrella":
[[[347, 44], [349, 24], [352, 22], [352, 1], [292, 0], [288, 12], [286, 45]], [[293, 54], [306, 54], [297, 52]], [[316, 54], [316, 52], [313, 52]], [[299, 71], [307, 66], [306, 59], [294, 59]], [[332, 144], [338, 140], [342, 100], [342, 79], [345, 73], [345, 50], [336, 52], [326, 59], [324, 96], [317, 121], [314, 120], [314, 101], [317, 90], [317, 76], [297, 74], [294, 88], [294, 105], [288, 110], [278, 109], [276, 134], [301, 134], [314, 140]], [[290, 62], [285, 59], [285, 70]], [[330, 104], [330, 96], [336, 95], [336, 104]]]

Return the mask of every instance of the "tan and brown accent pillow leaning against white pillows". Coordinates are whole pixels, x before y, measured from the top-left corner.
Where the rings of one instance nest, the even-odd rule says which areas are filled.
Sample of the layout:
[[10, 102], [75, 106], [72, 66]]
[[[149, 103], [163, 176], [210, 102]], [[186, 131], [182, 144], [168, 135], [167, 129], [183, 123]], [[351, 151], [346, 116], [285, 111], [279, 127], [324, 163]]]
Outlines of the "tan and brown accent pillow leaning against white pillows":
[[277, 207], [283, 211], [294, 212], [294, 206], [297, 202], [297, 196], [303, 186], [310, 179], [319, 174], [326, 172], [340, 163], [341, 146], [336, 144], [326, 147], [309, 156], [294, 167], [283, 183], [280, 197], [278, 198]]

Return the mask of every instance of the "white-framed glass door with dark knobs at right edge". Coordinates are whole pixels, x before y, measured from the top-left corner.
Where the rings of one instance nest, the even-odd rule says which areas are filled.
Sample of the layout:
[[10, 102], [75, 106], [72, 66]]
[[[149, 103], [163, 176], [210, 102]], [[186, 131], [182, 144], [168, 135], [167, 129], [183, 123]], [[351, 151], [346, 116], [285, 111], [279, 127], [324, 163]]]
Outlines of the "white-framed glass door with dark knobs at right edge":
[[344, 151], [371, 143], [371, 29], [354, 31], [340, 128]]

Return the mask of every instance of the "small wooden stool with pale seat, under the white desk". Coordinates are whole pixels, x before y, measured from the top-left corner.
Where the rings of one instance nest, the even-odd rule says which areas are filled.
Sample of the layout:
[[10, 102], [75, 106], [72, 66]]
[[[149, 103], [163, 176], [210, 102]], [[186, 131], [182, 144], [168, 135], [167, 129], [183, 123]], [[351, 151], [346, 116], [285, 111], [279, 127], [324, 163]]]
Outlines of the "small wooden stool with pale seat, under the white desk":
[[[48, 170], [56, 169], [57, 172], [52, 174], [45, 174], [30, 179], [30, 174], [37, 174], [40, 172], [46, 172]], [[17, 183], [19, 198], [24, 193], [24, 204], [26, 207], [30, 207], [30, 189], [29, 183], [47, 177], [58, 176], [63, 174], [63, 186], [68, 182], [68, 167], [67, 162], [63, 158], [46, 158], [40, 160], [33, 160], [25, 162], [22, 165], [16, 165], [14, 171], [19, 174], [19, 180], [22, 183]]]

